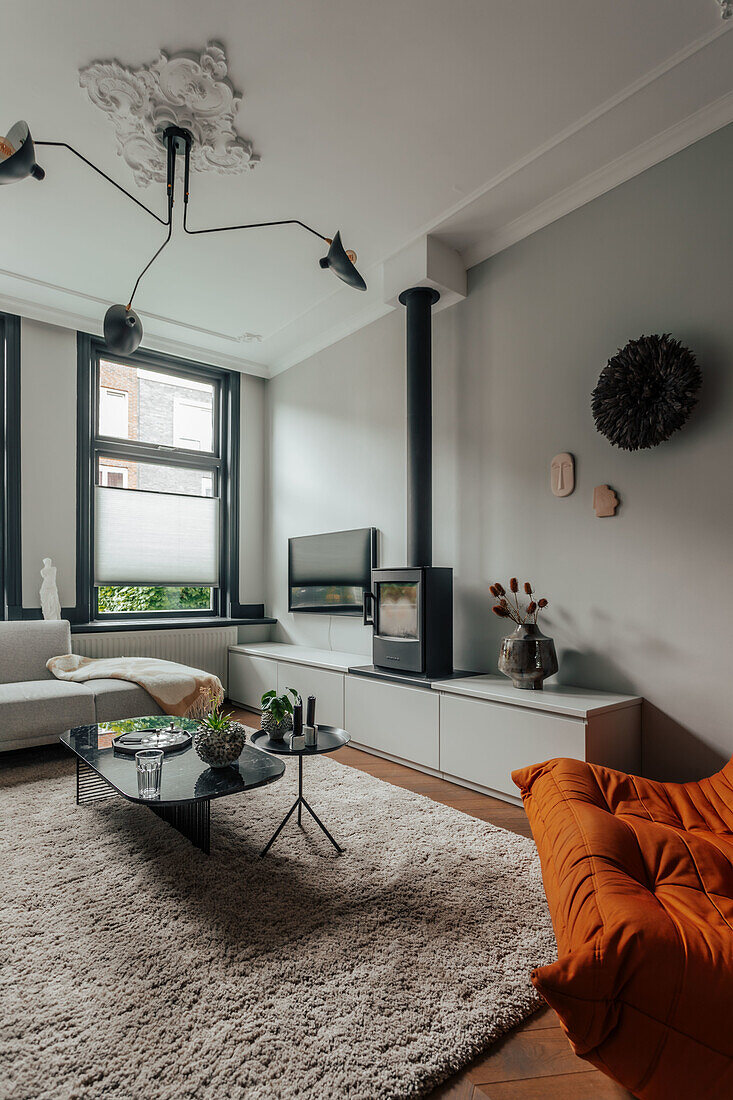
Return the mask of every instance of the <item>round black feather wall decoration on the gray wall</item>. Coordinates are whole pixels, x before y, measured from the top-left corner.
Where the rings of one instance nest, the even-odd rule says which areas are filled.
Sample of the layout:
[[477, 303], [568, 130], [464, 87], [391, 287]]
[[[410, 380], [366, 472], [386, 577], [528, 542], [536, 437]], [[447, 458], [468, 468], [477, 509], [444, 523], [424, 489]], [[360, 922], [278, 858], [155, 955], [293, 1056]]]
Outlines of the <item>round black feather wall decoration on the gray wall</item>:
[[630, 340], [601, 371], [595, 427], [624, 451], [656, 447], [686, 422], [701, 384], [694, 355], [669, 333]]

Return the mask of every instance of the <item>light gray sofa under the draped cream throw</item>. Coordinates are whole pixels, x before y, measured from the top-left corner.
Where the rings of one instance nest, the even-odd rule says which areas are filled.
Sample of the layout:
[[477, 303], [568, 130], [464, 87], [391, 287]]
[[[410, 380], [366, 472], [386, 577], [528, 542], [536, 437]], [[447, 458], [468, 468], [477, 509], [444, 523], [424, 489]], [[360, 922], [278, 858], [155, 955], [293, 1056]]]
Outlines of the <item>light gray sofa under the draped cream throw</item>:
[[56, 680], [46, 661], [72, 652], [68, 623], [0, 623], [0, 752], [47, 745], [73, 726], [162, 714], [124, 680]]

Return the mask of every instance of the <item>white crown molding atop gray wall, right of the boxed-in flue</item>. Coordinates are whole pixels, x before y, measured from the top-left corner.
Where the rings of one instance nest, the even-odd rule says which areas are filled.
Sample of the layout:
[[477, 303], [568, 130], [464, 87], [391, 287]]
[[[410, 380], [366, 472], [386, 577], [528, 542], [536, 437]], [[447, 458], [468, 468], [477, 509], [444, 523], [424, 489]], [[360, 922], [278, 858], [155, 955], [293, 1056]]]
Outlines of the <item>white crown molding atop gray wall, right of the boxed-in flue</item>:
[[461, 252], [466, 266], [474, 267], [490, 256], [503, 252], [504, 249], [536, 233], [537, 230], [545, 229], [567, 213], [627, 183], [655, 164], [681, 153], [683, 148], [708, 138], [730, 122], [733, 122], [733, 92], [721, 96], [681, 122], [668, 127], [660, 134], [637, 145], [630, 153], [624, 153], [595, 172], [591, 172], [577, 184], [558, 191], [557, 195], [506, 226], [502, 226], [501, 229], [486, 233]]

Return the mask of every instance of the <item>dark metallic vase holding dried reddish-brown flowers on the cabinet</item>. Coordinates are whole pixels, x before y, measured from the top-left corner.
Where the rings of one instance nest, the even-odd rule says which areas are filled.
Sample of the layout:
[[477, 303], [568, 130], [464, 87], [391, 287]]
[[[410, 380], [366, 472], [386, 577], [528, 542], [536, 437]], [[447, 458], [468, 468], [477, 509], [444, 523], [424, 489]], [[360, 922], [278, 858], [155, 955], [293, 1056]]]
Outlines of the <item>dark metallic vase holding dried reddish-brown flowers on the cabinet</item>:
[[495, 601], [491, 608], [494, 615], [516, 623], [516, 630], [502, 638], [499, 671], [508, 676], [515, 688], [541, 691], [547, 676], [557, 672], [555, 642], [537, 626], [537, 619], [548, 601], [544, 596], [536, 600], [529, 581], [525, 581], [527, 602], [523, 606], [519, 582], [515, 576], [510, 581], [508, 592], [499, 581], [490, 584], [489, 591]]

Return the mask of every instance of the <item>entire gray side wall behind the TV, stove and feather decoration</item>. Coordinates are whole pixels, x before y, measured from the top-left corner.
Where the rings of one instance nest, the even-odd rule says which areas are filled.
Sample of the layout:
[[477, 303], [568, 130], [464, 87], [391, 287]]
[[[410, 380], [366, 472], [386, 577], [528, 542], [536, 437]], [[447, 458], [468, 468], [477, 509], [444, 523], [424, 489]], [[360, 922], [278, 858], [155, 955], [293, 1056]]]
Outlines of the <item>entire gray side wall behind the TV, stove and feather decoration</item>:
[[[486, 586], [530, 579], [551, 601], [566, 683], [645, 697], [644, 771], [697, 778], [733, 751], [727, 663], [733, 560], [733, 128], [657, 165], [470, 273], [436, 316], [435, 562], [456, 570], [456, 661], [495, 668]], [[281, 637], [329, 645], [286, 613], [286, 539], [374, 525], [404, 556], [404, 358], [391, 315], [273, 380], [269, 610]], [[704, 374], [689, 426], [627, 454], [594, 430], [608, 358], [671, 331]], [[556, 499], [549, 463], [577, 460]], [[592, 510], [612, 485], [614, 518]], [[333, 623], [333, 648], [369, 632]]]

